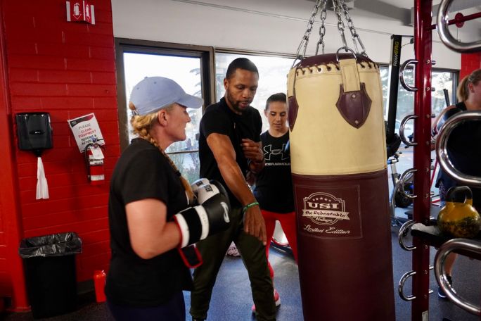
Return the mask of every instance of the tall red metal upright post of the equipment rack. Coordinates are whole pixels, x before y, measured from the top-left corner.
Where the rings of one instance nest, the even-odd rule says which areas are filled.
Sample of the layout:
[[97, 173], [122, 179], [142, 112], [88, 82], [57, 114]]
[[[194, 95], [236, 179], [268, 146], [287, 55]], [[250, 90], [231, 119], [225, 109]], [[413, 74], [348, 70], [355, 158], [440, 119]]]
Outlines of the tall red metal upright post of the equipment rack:
[[[414, 51], [418, 61], [415, 81], [418, 89], [414, 95], [414, 200], [413, 218], [429, 225], [430, 218], [430, 158], [431, 158], [431, 69], [432, 69], [432, 0], [414, 1]], [[413, 300], [411, 319], [428, 320], [429, 315], [429, 246], [418, 237], [413, 238]]]

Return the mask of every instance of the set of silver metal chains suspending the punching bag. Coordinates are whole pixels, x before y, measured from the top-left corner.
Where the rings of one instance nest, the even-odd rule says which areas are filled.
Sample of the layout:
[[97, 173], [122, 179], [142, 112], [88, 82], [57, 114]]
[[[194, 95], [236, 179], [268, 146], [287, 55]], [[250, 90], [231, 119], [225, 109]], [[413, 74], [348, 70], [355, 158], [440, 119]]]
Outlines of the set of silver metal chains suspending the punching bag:
[[[309, 37], [312, 32], [312, 27], [314, 25], [314, 19], [316, 18], [317, 13], [319, 12], [319, 8], [321, 8], [321, 27], [319, 27], [319, 42], [317, 42], [316, 45], [316, 56], [319, 53], [319, 46], [322, 48], [322, 53], [324, 54], [324, 35], [326, 35], [326, 27], [325, 27], [325, 21], [326, 21], [326, 16], [327, 16], [327, 1], [328, 0], [317, 0], [316, 5], [314, 6], [314, 9], [312, 11], [311, 18], [309, 18], [309, 22], [307, 23], [307, 30], [304, 33], [304, 36], [302, 37], [302, 40], [297, 47], [296, 55], [295, 55], [295, 60], [293, 62], [293, 66], [295, 65], [297, 60], [302, 60], [304, 56], [306, 55], [307, 51], [307, 44], [309, 44]], [[347, 8], [347, 5], [345, 4], [345, 0], [332, 0], [333, 2], [333, 7], [335, 14], [338, 17], [338, 31], [340, 33], [340, 37], [342, 40], [342, 46], [340, 49], [344, 49], [346, 52], [347, 51], [352, 51], [352, 49], [349, 49], [347, 46], [346, 42], [346, 37], [344, 34], [344, 22], [342, 21], [342, 13], [344, 13], [345, 20], [347, 21], [347, 27], [349, 27], [349, 31], [351, 32], [352, 36], [352, 42], [354, 43], [354, 49], [356, 53], [362, 56], [366, 56], [366, 48], [364, 48], [364, 44], [361, 42], [361, 37], [359, 37], [359, 34], [356, 31], [356, 28], [354, 27], [354, 23], [352, 22], [352, 18], [349, 15], [349, 9]], [[357, 46], [357, 43], [359, 42], [359, 45], [361, 46], [362, 51], [359, 52], [359, 48]], [[302, 51], [302, 54], [301, 54]], [[354, 53], [354, 51], [352, 51]]]

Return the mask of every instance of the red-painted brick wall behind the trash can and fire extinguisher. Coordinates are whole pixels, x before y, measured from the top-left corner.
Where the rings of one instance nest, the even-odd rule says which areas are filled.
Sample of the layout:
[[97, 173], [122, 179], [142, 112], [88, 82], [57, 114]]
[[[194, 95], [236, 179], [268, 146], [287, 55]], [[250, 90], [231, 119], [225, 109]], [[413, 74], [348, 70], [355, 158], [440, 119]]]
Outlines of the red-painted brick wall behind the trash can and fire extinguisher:
[[[0, 103], [0, 118], [7, 118], [13, 132], [2, 144], [13, 146], [18, 199], [11, 201], [18, 203], [19, 237], [77, 232], [84, 243], [77, 256], [77, 279], [91, 279], [94, 270], [108, 267], [108, 183], [120, 154], [110, 0], [91, 1], [96, 25], [68, 23], [64, 0], [0, 1], [11, 108]], [[53, 127], [53, 149], [42, 155], [50, 194], [46, 200], [35, 199], [37, 158], [16, 147], [15, 113], [30, 111], [50, 113]], [[86, 181], [82, 154], [67, 123], [92, 112], [106, 144], [107, 180], [101, 186]], [[0, 193], [7, 188], [2, 184]], [[2, 248], [5, 215], [0, 210], [0, 275], [9, 259]]]

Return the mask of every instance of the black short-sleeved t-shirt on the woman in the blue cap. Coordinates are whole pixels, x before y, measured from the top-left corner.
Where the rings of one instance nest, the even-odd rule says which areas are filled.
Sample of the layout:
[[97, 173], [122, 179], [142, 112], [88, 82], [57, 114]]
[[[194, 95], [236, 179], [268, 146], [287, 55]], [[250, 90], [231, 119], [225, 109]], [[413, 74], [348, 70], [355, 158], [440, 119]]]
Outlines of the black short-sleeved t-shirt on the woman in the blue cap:
[[184, 187], [167, 158], [145, 139], [133, 139], [115, 165], [110, 182], [110, 270], [105, 294], [114, 304], [159, 306], [173, 294], [191, 289], [192, 279], [177, 249], [145, 260], [130, 244], [125, 205], [159, 199], [167, 206], [167, 220], [188, 207]]

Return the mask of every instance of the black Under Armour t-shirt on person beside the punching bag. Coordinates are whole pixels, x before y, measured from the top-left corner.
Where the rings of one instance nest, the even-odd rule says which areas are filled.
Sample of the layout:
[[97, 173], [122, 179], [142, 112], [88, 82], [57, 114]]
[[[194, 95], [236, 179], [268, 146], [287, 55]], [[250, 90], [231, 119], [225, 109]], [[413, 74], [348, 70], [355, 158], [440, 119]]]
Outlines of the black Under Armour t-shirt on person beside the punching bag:
[[256, 175], [254, 195], [260, 208], [275, 213], [294, 210], [293, 180], [290, 174], [290, 154], [284, 152], [289, 132], [272, 137], [269, 131], [262, 133], [262, 150], [266, 165]]

